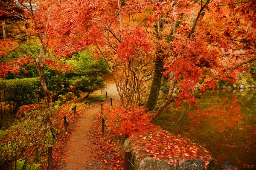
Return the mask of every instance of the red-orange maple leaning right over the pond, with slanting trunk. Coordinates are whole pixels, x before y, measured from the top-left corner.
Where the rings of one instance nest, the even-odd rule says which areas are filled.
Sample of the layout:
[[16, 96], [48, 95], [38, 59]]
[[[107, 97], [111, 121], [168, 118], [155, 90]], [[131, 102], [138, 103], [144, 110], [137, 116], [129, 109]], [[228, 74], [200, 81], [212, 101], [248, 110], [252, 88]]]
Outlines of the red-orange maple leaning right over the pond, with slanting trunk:
[[[252, 46], [255, 2], [206, 1], [198, 6], [194, 20], [181, 22], [182, 27], [176, 29], [178, 34], [171, 43], [173, 57], [168, 57], [164, 71], [173, 76], [169, 96], [154, 116], [171, 102], [180, 99], [195, 102], [201, 92], [215, 87], [217, 79], [235, 81], [235, 69], [256, 59]], [[199, 85], [202, 75], [204, 82]], [[179, 88], [176, 96], [175, 87]]]

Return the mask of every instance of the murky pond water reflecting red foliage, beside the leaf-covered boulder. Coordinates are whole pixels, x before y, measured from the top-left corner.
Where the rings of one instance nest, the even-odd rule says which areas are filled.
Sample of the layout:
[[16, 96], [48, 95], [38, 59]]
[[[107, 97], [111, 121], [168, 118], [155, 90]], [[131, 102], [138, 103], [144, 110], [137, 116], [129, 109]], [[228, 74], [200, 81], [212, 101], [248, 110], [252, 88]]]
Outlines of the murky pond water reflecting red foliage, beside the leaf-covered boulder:
[[239, 170], [255, 170], [256, 91], [206, 91], [197, 102], [172, 103], [153, 123], [207, 148], [216, 159], [215, 170], [226, 161]]

